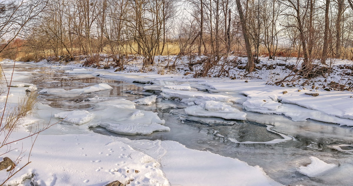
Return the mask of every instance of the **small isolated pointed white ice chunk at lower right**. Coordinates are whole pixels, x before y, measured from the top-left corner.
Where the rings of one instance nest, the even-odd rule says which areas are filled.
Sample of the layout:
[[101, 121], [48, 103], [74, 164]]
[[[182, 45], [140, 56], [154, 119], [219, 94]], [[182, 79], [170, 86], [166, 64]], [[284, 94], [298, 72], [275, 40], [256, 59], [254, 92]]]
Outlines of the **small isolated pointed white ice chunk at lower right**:
[[333, 163], [326, 163], [324, 161], [321, 161], [314, 156], [311, 156], [310, 160], [311, 163], [309, 165], [307, 165], [306, 167], [300, 166], [299, 168], [297, 168], [297, 171], [311, 178], [337, 166]]

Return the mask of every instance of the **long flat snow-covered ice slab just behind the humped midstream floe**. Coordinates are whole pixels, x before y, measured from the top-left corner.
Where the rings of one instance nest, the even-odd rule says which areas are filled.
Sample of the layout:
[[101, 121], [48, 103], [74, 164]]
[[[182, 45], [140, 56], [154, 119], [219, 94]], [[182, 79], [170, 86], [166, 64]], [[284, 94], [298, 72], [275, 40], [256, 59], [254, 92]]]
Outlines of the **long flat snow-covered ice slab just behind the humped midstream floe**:
[[229, 102], [232, 99], [225, 95], [208, 94], [200, 91], [180, 91], [174, 89], [164, 89], [161, 95], [166, 99], [184, 99], [184, 98], [199, 98], [204, 100], [213, 100], [221, 102]]

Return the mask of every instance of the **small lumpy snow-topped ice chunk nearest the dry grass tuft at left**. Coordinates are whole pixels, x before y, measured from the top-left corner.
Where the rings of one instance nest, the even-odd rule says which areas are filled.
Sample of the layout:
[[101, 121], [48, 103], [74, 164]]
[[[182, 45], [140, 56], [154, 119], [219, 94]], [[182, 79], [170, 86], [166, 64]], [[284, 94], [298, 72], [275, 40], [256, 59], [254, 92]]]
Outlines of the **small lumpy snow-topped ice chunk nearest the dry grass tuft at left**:
[[85, 110], [73, 110], [55, 114], [54, 118], [62, 119], [65, 122], [73, 123], [75, 125], [81, 125], [92, 120], [94, 114]]

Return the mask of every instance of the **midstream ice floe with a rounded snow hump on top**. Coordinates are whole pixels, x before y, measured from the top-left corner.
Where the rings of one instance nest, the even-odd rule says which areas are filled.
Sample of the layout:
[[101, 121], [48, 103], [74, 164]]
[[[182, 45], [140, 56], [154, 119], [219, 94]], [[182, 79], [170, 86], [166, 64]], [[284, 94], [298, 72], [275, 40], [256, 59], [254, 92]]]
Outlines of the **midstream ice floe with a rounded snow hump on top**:
[[191, 116], [217, 117], [224, 119], [246, 119], [246, 113], [216, 101], [206, 101], [204, 104], [187, 107], [185, 113]]

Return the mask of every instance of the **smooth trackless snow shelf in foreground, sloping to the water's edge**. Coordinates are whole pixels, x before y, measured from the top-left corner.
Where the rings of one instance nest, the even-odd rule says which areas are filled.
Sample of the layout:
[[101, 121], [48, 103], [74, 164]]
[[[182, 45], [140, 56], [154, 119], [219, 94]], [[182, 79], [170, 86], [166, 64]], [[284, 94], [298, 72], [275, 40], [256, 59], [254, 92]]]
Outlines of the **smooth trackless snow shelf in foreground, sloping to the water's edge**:
[[[174, 141], [124, 141], [160, 160], [163, 172], [172, 185], [205, 186], [282, 186], [271, 180], [258, 166], [208, 151], [188, 149]], [[207, 160], [207, 161], [205, 161]]]

